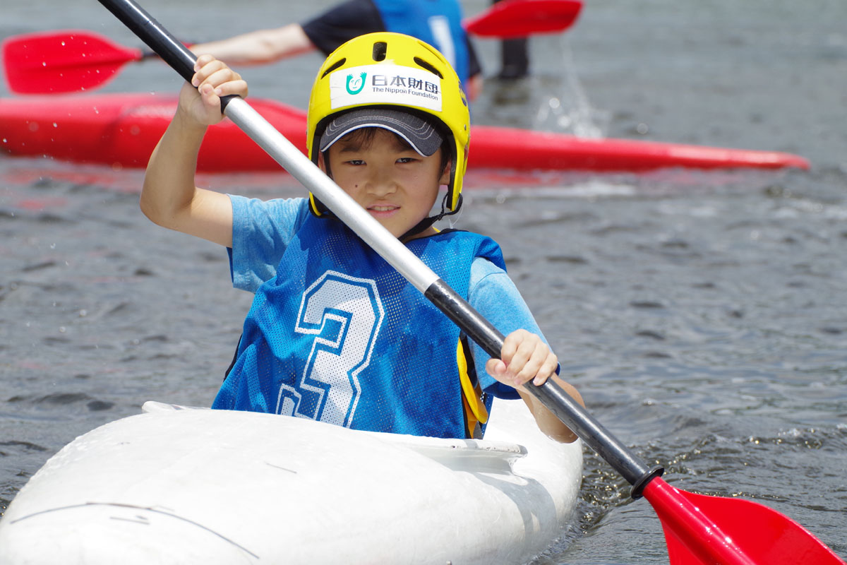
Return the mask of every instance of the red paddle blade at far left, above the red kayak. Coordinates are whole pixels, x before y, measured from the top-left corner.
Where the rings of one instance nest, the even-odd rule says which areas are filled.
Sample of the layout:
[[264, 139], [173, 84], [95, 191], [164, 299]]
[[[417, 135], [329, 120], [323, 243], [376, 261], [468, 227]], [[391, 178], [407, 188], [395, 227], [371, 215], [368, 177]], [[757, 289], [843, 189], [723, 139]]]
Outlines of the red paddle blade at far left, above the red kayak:
[[6, 80], [9, 89], [20, 94], [99, 86], [125, 63], [141, 58], [141, 49], [121, 47], [107, 37], [82, 30], [31, 33], [3, 42]]

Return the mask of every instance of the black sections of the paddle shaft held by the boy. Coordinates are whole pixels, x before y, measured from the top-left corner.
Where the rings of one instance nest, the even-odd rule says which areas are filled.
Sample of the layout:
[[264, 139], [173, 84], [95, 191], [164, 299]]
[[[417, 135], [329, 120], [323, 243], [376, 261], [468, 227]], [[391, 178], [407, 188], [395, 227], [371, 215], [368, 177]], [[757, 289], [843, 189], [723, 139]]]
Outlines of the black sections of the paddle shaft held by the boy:
[[[191, 53], [168, 30], [165, 30], [141, 6], [133, 0], [99, 0], [99, 2], [135, 33], [141, 41], [147, 43], [147, 46], [158, 53], [185, 80], [191, 81], [191, 77], [194, 75], [194, 64], [197, 61], [194, 53]], [[225, 98], [231, 99], [233, 97]], [[222, 109], [227, 101], [221, 101]], [[340, 191], [340, 189], [337, 190]], [[323, 198], [322, 201], [324, 201]], [[370, 218], [368, 219], [370, 220]], [[396, 266], [390, 258], [386, 259]], [[407, 275], [404, 274], [404, 276]], [[410, 280], [410, 282], [420, 281]], [[416, 286], [421, 289], [418, 284]], [[429, 286], [424, 286], [422, 291], [430, 302], [438, 307], [442, 313], [445, 313], [447, 318], [457, 324], [473, 341], [477, 342], [485, 352], [491, 357], [500, 357], [504, 340], [503, 335], [474, 310], [462, 296], [453, 291], [444, 280], [435, 280]], [[650, 479], [662, 474], [663, 469], [661, 467], [649, 468], [556, 383], [548, 380], [541, 386], [529, 385], [527, 390], [537, 396], [545, 407], [550, 409], [576, 435], [579, 435], [585, 443], [597, 451], [607, 463], [612, 465], [612, 468], [623, 475], [624, 479], [627, 479], [630, 485], [633, 485], [631, 491], [633, 498], [641, 496], [641, 491], [650, 482]]]

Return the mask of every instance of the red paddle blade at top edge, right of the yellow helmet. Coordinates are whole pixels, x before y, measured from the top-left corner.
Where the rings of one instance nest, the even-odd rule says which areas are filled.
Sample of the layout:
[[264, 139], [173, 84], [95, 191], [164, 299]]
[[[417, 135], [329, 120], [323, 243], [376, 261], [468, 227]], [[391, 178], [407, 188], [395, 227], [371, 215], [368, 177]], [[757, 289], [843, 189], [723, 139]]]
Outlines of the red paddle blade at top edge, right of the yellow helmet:
[[506, 0], [465, 20], [474, 36], [525, 37], [567, 30], [579, 15], [579, 0]]

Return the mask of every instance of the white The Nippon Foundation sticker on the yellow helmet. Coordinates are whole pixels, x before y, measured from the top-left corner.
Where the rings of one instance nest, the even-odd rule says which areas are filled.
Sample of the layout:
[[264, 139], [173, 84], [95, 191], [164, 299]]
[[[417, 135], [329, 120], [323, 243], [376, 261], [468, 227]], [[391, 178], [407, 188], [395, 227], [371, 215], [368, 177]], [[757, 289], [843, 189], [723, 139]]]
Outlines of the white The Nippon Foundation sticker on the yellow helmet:
[[401, 104], [441, 111], [441, 80], [424, 69], [368, 64], [329, 75], [330, 107]]

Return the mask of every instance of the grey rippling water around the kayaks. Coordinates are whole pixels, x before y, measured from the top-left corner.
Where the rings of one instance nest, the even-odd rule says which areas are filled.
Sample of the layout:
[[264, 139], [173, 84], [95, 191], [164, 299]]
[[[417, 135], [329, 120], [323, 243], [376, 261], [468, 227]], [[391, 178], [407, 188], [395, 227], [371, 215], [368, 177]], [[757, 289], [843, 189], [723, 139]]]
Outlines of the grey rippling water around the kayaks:
[[[192, 41], [313, 9], [144, 5]], [[0, 37], [78, 27], [137, 44], [97, 3], [58, 6], [4, 5]], [[477, 122], [530, 127], [551, 97], [584, 109], [567, 97], [577, 79], [609, 136], [796, 152], [811, 171], [474, 173], [459, 219], [501, 242], [603, 424], [674, 485], [763, 501], [842, 557], [845, 16], [841, 0], [592, 1], [567, 32], [576, 76], [559, 39], [534, 38], [533, 79], [491, 82]], [[495, 74], [496, 43], [478, 46]], [[318, 64], [245, 74], [254, 96], [303, 106]], [[148, 63], [104, 90], [179, 83]], [[202, 182], [302, 194], [284, 174]], [[208, 405], [229, 363], [250, 296], [231, 290], [216, 246], [141, 216], [140, 183], [135, 170], [0, 157], [0, 508], [69, 440], [147, 399]], [[667, 562], [654, 512], [625, 487], [586, 453], [578, 514], [538, 562]]]

